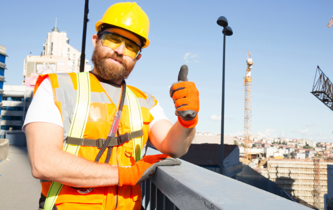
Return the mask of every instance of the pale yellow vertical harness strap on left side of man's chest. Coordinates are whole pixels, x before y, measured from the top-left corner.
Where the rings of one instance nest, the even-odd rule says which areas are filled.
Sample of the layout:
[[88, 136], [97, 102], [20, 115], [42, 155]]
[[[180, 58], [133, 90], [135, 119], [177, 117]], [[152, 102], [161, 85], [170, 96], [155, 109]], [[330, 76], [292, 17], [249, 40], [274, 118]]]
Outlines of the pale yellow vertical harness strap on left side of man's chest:
[[[77, 83], [77, 96], [76, 104], [74, 110], [74, 116], [71, 123], [71, 128], [68, 136], [74, 138], [82, 138], [85, 125], [89, 115], [90, 108], [90, 78], [89, 72], [80, 72], [76, 74], [76, 83]], [[71, 145], [66, 143], [63, 150], [74, 154], [77, 156], [80, 146]], [[52, 210], [55, 201], [58, 198], [60, 190], [62, 189], [63, 184], [59, 182], [52, 181], [50, 189], [48, 190], [44, 210]]]

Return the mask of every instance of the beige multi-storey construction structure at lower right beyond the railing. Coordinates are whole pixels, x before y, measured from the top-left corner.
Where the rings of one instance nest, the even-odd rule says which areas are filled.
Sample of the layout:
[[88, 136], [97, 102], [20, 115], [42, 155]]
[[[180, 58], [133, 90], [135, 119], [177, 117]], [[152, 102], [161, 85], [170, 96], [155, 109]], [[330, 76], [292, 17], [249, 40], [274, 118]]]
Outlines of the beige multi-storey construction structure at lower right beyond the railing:
[[[268, 160], [267, 169], [259, 171], [274, 181], [297, 203], [312, 209], [324, 210], [324, 195], [328, 193], [327, 165], [333, 162], [317, 158], [298, 160]], [[332, 167], [332, 166], [331, 166]]]

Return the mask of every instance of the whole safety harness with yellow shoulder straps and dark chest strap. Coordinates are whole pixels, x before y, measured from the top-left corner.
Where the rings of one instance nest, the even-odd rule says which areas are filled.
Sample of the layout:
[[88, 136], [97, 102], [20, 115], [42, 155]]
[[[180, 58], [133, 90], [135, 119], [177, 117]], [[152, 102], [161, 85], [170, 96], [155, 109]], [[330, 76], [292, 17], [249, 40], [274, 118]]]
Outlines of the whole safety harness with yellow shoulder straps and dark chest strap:
[[[70, 131], [68, 134], [67, 142], [63, 150], [77, 156], [80, 146], [97, 147], [101, 150], [97, 154], [95, 162], [99, 162], [99, 159], [102, 156], [103, 152], [106, 150], [106, 148], [109, 147], [108, 155], [105, 161], [106, 163], [109, 163], [112, 147], [122, 145], [125, 142], [128, 142], [129, 140], [133, 139], [133, 150], [134, 150], [135, 161], [139, 161], [141, 159], [141, 152], [143, 146], [143, 130], [142, 130], [143, 119], [138, 98], [133, 93], [133, 91], [130, 90], [129, 88], [126, 88], [126, 83], [125, 81], [123, 81], [122, 95], [119, 103], [119, 108], [118, 111], [116, 112], [116, 115], [114, 116], [108, 138], [97, 139], [97, 140], [85, 139], [83, 138], [83, 134], [89, 115], [90, 98], [91, 98], [89, 72], [77, 73], [76, 82], [77, 82], [77, 95], [76, 95], [74, 115]], [[131, 132], [125, 133], [123, 135], [118, 135], [115, 137], [115, 133], [117, 132], [119, 121], [121, 118], [125, 95], [128, 101]], [[63, 184], [52, 181], [45, 199], [44, 210], [52, 210], [53, 207], [55, 207], [54, 204], [57, 200], [57, 197], [62, 187]], [[93, 189], [93, 187], [90, 187], [87, 190], [82, 191], [83, 188], [79, 187], [72, 187], [72, 188], [76, 189], [81, 194], [89, 193]]]

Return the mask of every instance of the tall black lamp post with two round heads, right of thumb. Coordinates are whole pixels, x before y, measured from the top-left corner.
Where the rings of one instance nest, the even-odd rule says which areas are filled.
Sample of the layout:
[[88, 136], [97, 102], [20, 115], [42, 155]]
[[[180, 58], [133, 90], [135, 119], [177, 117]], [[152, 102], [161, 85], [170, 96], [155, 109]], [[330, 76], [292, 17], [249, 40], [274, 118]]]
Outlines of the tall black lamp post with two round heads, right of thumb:
[[219, 17], [217, 24], [223, 27], [223, 70], [222, 70], [222, 114], [221, 114], [221, 147], [220, 147], [220, 174], [224, 174], [224, 61], [225, 61], [225, 36], [232, 35], [232, 29], [224, 16]]

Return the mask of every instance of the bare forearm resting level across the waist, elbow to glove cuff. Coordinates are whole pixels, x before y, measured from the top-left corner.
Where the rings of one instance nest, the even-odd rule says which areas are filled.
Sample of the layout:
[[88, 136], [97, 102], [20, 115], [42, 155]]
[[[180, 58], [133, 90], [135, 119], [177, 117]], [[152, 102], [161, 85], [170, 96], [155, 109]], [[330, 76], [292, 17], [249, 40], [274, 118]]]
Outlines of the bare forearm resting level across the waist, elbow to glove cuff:
[[[33, 176], [75, 187], [108, 186], [118, 184], [118, 168], [108, 164], [90, 162], [63, 150], [48, 152], [47, 161], [34, 158]], [[31, 158], [32, 159], [32, 158]]]

